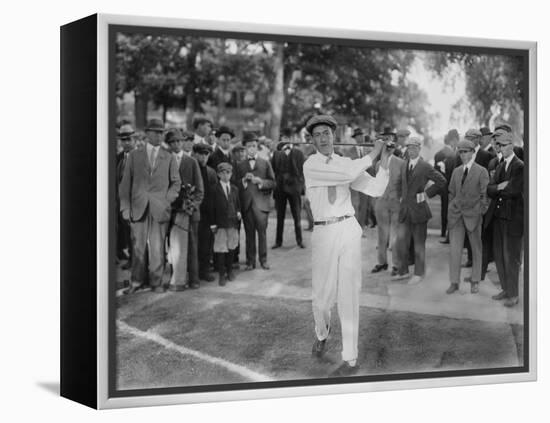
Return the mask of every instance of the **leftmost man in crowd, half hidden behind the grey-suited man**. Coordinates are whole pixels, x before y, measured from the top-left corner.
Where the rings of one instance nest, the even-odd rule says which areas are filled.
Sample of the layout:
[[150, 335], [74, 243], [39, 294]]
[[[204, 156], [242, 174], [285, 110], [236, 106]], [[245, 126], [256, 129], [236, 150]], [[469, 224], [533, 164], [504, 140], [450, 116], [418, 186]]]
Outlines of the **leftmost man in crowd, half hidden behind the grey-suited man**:
[[[116, 234], [117, 234], [117, 258], [119, 260], [128, 259], [127, 263], [122, 266], [123, 269], [128, 269], [132, 262], [132, 236], [130, 231], [130, 223], [122, 218], [120, 213], [120, 199], [118, 196], [118, 186], [124, 175], [124, 168], [128, 162], [128, 156], [135, 148], [133, 138], [134, 128], [131, 125], [122, 125], [118, 131], [118, 139], [122, 147], [122, 151], [116, 156]], [[126, 254], [127, 251], [127, 254]]]

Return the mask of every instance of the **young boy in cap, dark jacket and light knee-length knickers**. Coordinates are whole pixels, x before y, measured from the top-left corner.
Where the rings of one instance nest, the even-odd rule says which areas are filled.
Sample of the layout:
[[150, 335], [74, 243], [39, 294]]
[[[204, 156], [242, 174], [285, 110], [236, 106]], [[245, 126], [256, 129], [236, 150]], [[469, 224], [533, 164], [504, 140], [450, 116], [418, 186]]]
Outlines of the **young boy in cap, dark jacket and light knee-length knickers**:
[[233, 166], [222, 162], [217, 167], [219, 182], [210, 196], [210, 229], [214, 233], [214, 263], [219, 273], [218, 284], [224, 286], [232, 281], [233, 253], [239, 243], [241, 204], [239, 190], [231, 183]]

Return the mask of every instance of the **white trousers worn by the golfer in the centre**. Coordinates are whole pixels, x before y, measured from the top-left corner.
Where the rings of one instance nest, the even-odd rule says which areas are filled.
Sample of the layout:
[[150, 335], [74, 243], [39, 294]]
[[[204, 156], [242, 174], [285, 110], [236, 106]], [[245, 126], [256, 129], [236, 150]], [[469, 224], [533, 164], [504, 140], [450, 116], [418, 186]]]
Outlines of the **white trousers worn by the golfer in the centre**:
[[357, 359], [361, 292], [361, 226], [348, 218], [315, 226], [311, 237], [313, 318], [317, 339], [328, 336], [332, 306], [338, 303], [342, 359]]

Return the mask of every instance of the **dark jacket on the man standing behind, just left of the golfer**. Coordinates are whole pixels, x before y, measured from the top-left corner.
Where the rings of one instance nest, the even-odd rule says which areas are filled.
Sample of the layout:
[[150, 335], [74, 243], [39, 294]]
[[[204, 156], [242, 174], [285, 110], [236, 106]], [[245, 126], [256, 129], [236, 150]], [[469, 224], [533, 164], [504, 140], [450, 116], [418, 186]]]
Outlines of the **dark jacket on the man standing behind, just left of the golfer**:
[[284, 151], [275, 151], [273, 153], [271, 167], [275, 173], [275, 195], [278, 191], [294, 195], [303, 194], [305, 188], [305, 161], [304, 153], [296, 148], [291, 149], [288, 156]]

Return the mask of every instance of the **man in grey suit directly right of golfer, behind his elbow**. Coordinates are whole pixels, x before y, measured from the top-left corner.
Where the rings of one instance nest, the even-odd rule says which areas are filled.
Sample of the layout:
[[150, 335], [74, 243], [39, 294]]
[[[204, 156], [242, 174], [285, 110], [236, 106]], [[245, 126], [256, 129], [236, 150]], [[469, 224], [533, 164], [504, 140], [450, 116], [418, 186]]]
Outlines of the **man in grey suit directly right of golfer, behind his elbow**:
[[[402, 268], [401, 260], [406, 260], [406, 258], [399, 255], [399, 249], [395, 243], [405, 178], [405, 161], [394, 155], [395, 148], [395, 143], [388, 142], [382, 150], [382, 158], [388, 160], [390, 179], [384, 193], [376, 199], [374, 205], [374, 213], [378, 223], [378, 264], [371, 270], [372, 273], [377, 273], [388, 268], [387, 250], [391, 246], [393, 265], [391, 275], [393, 277], [397, 277], [399, 269]], [[378, 172], [379, 167], [380, 162], [376, 164], [376, 172]], [[401, 278], [407, 276], [408, 272], [402, 274]]]

